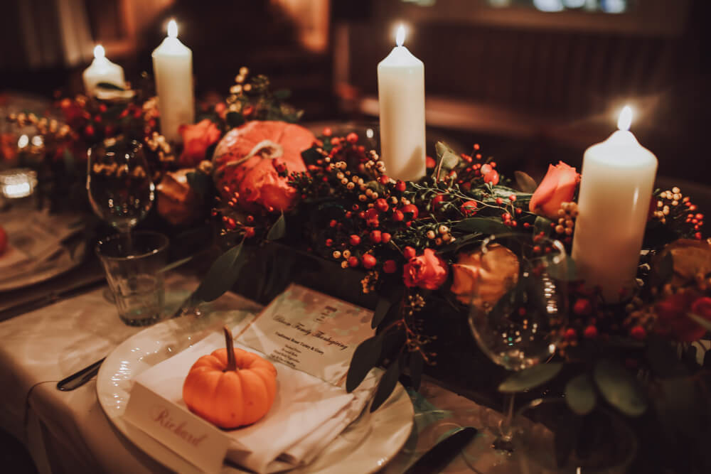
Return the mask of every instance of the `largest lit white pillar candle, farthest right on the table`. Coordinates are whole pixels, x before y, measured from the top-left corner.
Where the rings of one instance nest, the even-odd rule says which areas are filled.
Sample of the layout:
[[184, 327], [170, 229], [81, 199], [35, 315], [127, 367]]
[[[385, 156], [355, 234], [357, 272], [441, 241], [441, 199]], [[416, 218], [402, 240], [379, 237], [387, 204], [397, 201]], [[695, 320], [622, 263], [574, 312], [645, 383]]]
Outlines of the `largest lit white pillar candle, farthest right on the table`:
[[624, 107], [615, 131], [585, 151], [572, 257], [588, 286], [600, 286], [606, 301], [636, 275], [649, 212], [657, 158], [629, 131]]

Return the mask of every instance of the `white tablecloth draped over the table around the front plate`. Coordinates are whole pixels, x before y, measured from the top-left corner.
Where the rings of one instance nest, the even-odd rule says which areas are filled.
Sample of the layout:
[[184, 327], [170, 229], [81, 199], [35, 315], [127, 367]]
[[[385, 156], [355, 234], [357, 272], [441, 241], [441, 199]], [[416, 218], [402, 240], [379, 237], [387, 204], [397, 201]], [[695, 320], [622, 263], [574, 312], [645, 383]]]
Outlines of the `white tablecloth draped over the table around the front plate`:
[[[174, 275], [167, 286], [179, 300], [197, 284]], [[60, 379], [142, 329], [119, 321], [103, 292], [96, 289], [0, 323], [0, 429], [25, 444], [41, 474], [169, 472], [113, 428], [97, 402], [94, 380], [72, 392], [56, 389]], [[213, 308], [234, 305], [228, 294]], [[415, 433], [385, 474], [402, 473], [455, 424], [481, 424], [482, 409], [473, 402], [432, 384], [421, 393], [425, 398], [413, 397], [426, 399], [428, 408], [416, 415]], [[445, 472], [471, 471], [460, 456]]]

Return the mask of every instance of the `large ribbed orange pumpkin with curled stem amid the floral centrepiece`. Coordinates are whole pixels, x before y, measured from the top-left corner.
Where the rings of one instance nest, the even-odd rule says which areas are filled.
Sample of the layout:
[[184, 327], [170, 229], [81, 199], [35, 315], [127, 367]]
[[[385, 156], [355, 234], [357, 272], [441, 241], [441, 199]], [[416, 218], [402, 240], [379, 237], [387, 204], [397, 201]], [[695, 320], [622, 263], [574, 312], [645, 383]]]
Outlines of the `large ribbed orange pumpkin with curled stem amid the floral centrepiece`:
[[287, 210], [296, 201], [296, 189], [274, 166], [284, 165], [289, 173], [306, 171], [301, 151], [315, 140], [311, 131], [296, 124], [247, 122], [228, 131], [215, 148], [215, 184], [227, 200], [238, 193], [238, 202], [250, 212], [260, 207]]

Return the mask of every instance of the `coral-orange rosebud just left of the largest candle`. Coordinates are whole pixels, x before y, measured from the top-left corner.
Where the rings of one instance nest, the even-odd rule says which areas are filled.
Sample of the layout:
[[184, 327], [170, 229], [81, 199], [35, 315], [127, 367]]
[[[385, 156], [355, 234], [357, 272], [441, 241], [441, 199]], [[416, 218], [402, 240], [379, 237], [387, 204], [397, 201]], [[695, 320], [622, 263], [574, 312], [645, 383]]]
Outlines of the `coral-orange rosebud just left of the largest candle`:
[[528, 209], [546, 217], [558, 217], [560, 205], [572, 200], [579, 181], [580, 174], [572, 166], [562, 161], [555, 166], [548, 165], [548, 172], [531, 196]]

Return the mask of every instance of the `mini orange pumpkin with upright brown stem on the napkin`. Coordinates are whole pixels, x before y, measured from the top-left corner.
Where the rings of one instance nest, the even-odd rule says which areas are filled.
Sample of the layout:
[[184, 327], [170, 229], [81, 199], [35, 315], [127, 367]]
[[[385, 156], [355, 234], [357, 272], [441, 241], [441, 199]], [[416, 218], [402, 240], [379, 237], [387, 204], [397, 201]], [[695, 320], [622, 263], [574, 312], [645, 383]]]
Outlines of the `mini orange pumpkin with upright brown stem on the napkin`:
[[277, 370], [259, 355], [232, 345], [200, 357], [183, 383], [183, 400], [193, 413], [220, 428], [252, 424], [267, 414], [277, 393]]

